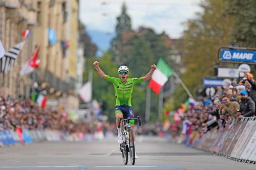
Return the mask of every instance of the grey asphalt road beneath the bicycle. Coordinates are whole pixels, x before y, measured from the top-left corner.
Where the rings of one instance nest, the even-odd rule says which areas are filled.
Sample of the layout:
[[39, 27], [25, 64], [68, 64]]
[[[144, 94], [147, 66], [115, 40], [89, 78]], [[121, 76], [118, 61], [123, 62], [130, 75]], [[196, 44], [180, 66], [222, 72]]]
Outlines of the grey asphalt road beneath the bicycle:
[[2, 169], [256, 169], [206, 152], [172, 144], [164, 138], [140, 136], [139, 159], [123, 164], [116, 138], [95, 142], [40, 142], [0, 148]]

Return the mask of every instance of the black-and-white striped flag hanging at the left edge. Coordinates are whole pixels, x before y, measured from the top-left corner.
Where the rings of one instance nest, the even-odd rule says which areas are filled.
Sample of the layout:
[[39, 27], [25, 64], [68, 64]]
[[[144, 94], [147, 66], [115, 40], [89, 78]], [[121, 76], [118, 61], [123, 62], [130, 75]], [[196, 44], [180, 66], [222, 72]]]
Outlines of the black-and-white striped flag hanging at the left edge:
[[0, 59], [0, 72], [7, 72], [11, 69], [26, 41], [21, 41], [11, 47], [4, 57]]

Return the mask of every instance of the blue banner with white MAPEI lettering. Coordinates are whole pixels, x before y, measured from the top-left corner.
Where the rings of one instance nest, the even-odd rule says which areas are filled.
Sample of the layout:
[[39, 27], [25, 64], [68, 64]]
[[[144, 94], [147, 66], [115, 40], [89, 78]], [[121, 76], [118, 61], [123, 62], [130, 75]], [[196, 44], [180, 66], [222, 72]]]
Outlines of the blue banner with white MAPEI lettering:
[[238, 61], [238, 62], [253, 62], [256, 61], [256, 52], [243, 50], [225, 50], [221, 49], [222, 61]]

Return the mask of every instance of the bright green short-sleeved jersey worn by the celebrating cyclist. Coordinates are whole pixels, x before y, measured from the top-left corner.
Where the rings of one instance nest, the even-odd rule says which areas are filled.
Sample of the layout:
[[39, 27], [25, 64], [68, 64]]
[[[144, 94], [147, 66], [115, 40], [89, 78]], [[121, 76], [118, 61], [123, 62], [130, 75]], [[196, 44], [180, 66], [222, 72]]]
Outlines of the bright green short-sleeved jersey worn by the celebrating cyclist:
[[106, 76], [105, 80], [111, 82], [115, 89], [116, 106], [127, 105], [132, 106], [131, 99], [134, 85], [143, 82], [142, 78], [126, 79], [123, 84], [120, 78]]

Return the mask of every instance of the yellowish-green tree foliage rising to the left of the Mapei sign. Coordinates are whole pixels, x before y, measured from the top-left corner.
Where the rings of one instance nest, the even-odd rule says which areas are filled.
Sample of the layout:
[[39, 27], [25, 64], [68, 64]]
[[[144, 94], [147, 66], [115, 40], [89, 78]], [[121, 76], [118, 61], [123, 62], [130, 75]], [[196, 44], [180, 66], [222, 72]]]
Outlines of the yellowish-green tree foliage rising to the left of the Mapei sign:
[[[198, 14], [198, 18], [186, 22], [187, 29], [182, 37], [186, 69], [182, 80], [194, 96], [202, 84], [202, 78], [213, 75], [218, 48], [230, 44], [232, 32], [232, 19], [224, 15], [225, 0], [206, 0], [201, 7], [203, 12]], [[179, 102], [187, 98], [181, 89], [176, 90], [173, 96]]]

